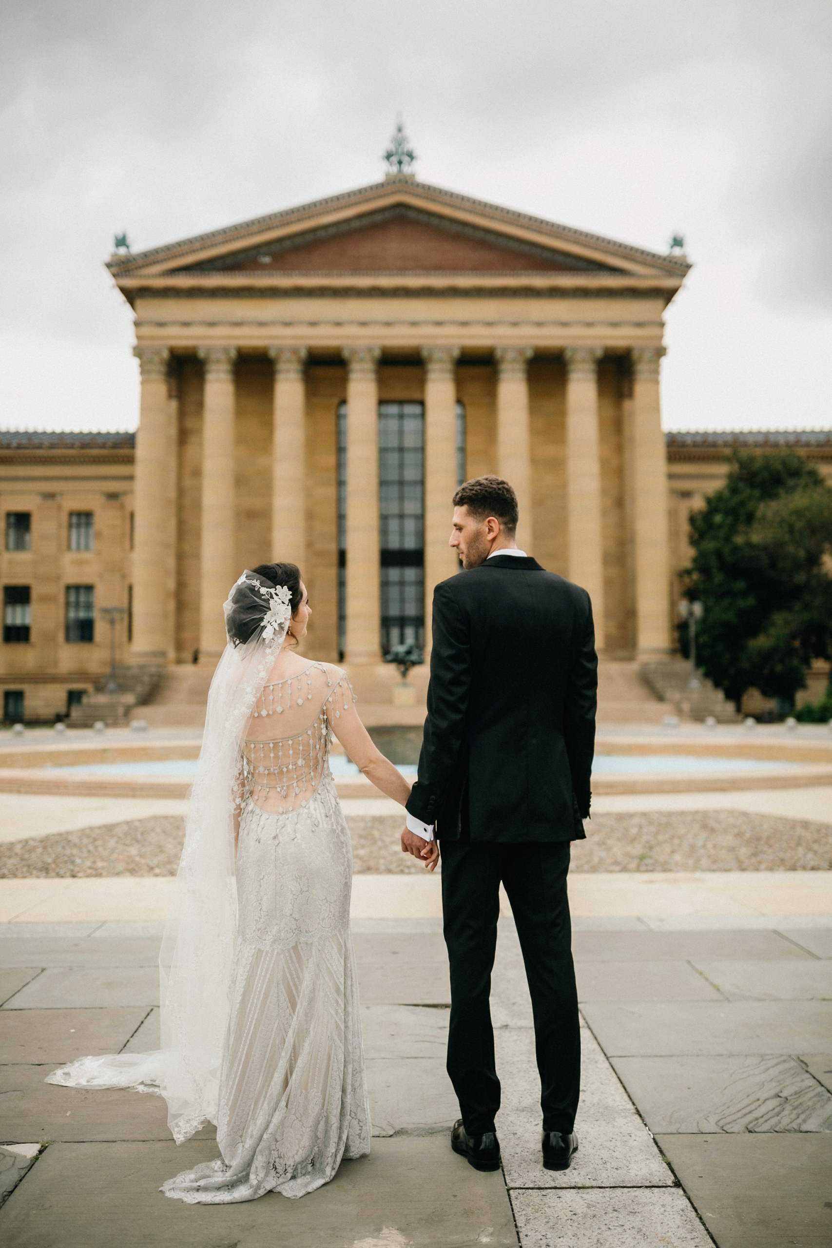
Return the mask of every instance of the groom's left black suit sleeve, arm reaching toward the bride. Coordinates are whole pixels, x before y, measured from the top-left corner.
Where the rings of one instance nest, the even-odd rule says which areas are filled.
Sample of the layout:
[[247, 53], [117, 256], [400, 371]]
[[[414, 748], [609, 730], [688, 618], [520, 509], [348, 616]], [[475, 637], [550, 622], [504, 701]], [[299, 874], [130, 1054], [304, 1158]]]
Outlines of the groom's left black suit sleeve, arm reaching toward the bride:
[[455, 595], [443, 582], [433, 592], [433, 648], [428, 718], [419, 755], [419, 775], [407, 810], [433, 824], [457, 778], [465, 740], [472, 679], [470, 625]]

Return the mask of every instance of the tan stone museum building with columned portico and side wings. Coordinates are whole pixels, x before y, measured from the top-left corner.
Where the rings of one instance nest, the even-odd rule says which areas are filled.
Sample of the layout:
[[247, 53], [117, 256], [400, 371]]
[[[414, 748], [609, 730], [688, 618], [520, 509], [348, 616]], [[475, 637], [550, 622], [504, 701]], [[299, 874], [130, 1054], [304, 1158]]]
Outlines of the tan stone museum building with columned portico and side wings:
[[[383, 654], [429, 653], [450, 499], [484, 473], [516, 489], [519, 545], [590, 592], [604, 656], [671, 651], [687, 514], [742, 438], [670, 436], [669, 487], [684, 256], [393, 172], [109, 268], [135, 312], [135, 448], [0, 436], [6, 720], [65, 714], [106, 671], [101, 608], [125, 612], [119, 661], [212, 669], [231, 584], [269, 559], [302, 569], [306, 653], [389, 701]], [[826, 434], [805, 449], [832, 458]]]

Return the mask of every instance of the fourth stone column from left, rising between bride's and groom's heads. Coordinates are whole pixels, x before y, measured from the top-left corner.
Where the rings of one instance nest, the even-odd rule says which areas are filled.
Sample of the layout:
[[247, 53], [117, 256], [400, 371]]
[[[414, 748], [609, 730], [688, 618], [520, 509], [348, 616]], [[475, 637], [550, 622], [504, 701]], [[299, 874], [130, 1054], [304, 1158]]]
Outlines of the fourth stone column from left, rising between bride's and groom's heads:
[[380, 663], [378, 361], [380, 347], [344, 347], [347, 361], [347, 663]]

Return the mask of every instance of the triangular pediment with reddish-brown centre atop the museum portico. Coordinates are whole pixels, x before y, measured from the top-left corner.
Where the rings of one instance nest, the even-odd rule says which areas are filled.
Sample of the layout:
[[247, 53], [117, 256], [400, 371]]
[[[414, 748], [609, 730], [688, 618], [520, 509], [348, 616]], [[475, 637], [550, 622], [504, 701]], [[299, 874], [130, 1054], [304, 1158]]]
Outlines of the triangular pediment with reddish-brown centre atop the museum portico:
[[681, 278], [659, 256], [412, 178], [258, 217], [137, 255], [114, 256], [117, 281], [292, 275], [569, 275]]

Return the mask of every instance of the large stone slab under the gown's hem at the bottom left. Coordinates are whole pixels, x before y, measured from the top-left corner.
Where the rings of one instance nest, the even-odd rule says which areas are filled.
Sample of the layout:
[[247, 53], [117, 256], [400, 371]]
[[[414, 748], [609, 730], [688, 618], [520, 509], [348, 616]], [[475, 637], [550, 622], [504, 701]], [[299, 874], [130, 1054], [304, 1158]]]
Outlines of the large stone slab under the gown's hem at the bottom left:
[[[516, 1248], [499, 1173], [480, 1174], [440, 1136], [373, 1141], [302, 1201], [183, 1204], [158, 1187], [216, 1144], [51, 1144], [0, 1209], [10, 1248]], [[136, 1231], [141, 1228], [141, 1238]], [[687, 1246], [685, 1246], [687, 1248]]]

